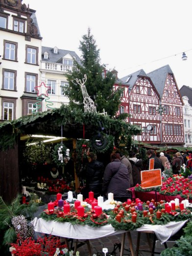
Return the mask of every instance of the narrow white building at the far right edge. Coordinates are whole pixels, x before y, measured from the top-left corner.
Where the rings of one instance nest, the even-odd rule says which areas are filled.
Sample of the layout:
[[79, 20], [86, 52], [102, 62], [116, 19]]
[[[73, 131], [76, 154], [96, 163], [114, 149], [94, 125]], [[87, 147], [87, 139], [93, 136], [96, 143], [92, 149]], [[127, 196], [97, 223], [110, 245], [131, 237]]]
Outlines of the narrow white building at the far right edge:
[[183, 119], [185, 129], [185, 147], [192, 147], [192, 106], [189, 103], [187, 96], [182, 97], [183, 106]]

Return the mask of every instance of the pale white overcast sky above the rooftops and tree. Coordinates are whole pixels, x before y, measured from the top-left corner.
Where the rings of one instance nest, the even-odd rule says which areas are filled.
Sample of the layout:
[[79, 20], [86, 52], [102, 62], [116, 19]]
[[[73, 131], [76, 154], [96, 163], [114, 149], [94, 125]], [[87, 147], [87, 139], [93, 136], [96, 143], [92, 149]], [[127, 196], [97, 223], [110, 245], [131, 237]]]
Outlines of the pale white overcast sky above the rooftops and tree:
[[[23, 0], [36, 10], [42, 46], [75, 51], [90, 27], [101, 64], [122, 78], [169, 65], [192, 87], [191, 0]], [[188, 59], [182, 60], [185, 52]]]

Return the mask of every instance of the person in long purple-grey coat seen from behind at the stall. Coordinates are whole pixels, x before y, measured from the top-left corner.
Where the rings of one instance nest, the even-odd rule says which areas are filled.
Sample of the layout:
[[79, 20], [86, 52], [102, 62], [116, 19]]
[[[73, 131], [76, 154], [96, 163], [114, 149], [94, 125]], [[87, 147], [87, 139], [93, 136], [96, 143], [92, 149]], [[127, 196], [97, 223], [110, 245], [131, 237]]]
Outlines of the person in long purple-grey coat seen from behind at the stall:
[[125, 202], [127, 198], [130, 198], [127, 188], [130, 188], [128, 169], [120, 162], [120, 154], [115, 153], [114, 159], [107, 164], [104, 171], [103, 194], [113, 193], [114, 200]]

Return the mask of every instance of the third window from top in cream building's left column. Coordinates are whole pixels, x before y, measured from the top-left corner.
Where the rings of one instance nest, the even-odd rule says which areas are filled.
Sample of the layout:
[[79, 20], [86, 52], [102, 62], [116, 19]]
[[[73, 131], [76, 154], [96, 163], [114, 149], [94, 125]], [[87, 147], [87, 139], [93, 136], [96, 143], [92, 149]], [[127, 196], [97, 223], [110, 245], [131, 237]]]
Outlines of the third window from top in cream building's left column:
[[2, 69], [2, 89], [16, 91], [17, 71]]

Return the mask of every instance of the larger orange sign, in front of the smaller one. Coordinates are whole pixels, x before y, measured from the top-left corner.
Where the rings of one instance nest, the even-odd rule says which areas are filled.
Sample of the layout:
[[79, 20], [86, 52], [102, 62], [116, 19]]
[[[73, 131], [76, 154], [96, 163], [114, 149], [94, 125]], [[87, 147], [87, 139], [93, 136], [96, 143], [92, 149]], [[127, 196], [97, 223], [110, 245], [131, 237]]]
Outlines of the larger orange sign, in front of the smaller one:
[[141, 187], [159, 187], [162, 186], [161, 169], [141, 171]]

